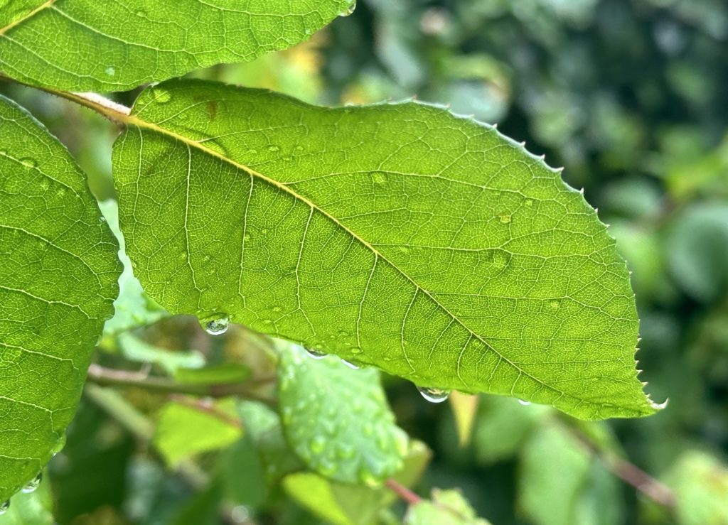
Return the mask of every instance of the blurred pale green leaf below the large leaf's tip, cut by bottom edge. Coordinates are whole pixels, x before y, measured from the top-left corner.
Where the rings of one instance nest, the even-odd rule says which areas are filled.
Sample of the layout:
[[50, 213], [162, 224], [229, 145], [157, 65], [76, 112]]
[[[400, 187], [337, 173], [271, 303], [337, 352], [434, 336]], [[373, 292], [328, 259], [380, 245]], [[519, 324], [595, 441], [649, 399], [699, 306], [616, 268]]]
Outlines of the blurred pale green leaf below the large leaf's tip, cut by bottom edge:
[[537, 525], [617, 523], [617, 481], [594, 469], [603, 467], [566, 428], [542, 425], [521, 456], [519, 508]]

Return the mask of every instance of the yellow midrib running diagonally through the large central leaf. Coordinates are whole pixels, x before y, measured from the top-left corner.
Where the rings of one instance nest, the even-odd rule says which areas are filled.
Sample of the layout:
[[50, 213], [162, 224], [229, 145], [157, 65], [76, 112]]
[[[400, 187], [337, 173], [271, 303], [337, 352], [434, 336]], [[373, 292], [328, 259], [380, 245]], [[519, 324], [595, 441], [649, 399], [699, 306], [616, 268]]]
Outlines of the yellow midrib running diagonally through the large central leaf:
[[[521, 369], [520, 366], [518, 366], [517, 364], [515, 364], [513, 361], [510, 361], [510, 359], [508, 359], [506, 356], [502, 355], [502, 353], [500, 353], [490, 343], [488, 343], [486, 340], [484, 340], [483, 337], [481, 337], [479, 334], [475, 333], [470, 328], [470, 326], [467, 326], [466, 324], [464, 324], [464, 322], [462, 320], [460, 320], [454, 313], [452, 313], [450, 310], [448, 310], [448, 308], [446, 308], [445, 305], [443, 305], [435, 297], [433, 297], [432, 294], [430, 294], [430, 292], [427, 289], [425, 289], [422, 285], [418, 284], [416, 281], [414, 281], [413, 278], [411, 278], [410, 276], [408, 276], [407, 273], [405, 273], [403, 270], [401, 270], [399, 267], [397, 267], [397, 265], [395, 265], [394, 262], [392, 262], [389, 259], [387, 259], [387, 257], [384, 257], [384, 255], [382, 255], [381, 252], [379, 252], [379, 250], [377, 250], [375, 247], [373, 247], [372, 244], [370, 244], [368, 241], [365, 241], [365, 239], [363, 239], [360, 236], [358, 236], [357, 233], [355, 233], [354, 231], [352, 231], [349, 228], [347, 228], [346, 225], [344, 225], [341, 222], [339, 222], [339, 220], [337, 220], [336, 217], [333, 217], [333, 215], [330, 215], [328, 212], [325, 211], [325, 209], [322, 209], [320, 207], [317, 207], [316, 204], [314, 204], [309, 199], [306, 199], [306, 197], [303, 196], [303, 195], [301, 195], [300, 193], [297, 193], [296, 191], [294, 191], [288, 185], [285, 185], [283, 183], [280, 183], [277, 180], [274, 180], [274, 179], [272, 179], [270, 177], [266, 177], [266, 175], [262, 174], [261, 172], [257, 172], [255, 169], [252, 169], [252, 168], [250, 168], [248, 166], [245, 166], [245, 164], [240, 164], [237, 161], [234, 161], [232, 159], [229, 159], [228, 157], [224, 156], [222, 153], [218, 153], [217, 151], [215, 151], [215, 150], [213, 150], [211, 148], [207, 148], [205, 145], [202, 145], [202, 144], [198, 143], [195, 140], [191, 140], [189, 137], [185, 137], [184, 135], [180, 135], [180, 134], [178, 134], [176, 132], [171, 131], [170, 129], [166, 129], [164, 127], [160, 127], [158, 124], [154, 124], [154, 123], [145, 121], [143, 119], [140, 119], [135, 114], [131, 114], [130, 116], [126, 116], [125, 119], [124, 119], [124, 121], [126, 121], [127, 124], [130, 124], [132, 126], [139, 127], [139, 128], [142, 128], [142, 129], [149, 129], [149, 130], [154, 131], [154, 132], [157, 132], [157, 133], [159, 133], [161, 135], [165, 135], [167, 137], [171, 137], [171, 138], [173, 138], [175, 140], [178, 140], [181, 143], [186, 144], [188, 147], [196, 148], [198, 151], [202, 151], [203, 153], [207, 153], [207, 155], [213, 156], [215, 159], [218, 159], [220, 161], [223, 161], [226, 164], [230, 164], [233, 167], [235, 167], [237, 169], [240, 169], [243, 172], [248, 173], [251, 177], [256, 177], [259, 180], [261, 180], [262, 182], [268, 183], [269, 185], [274, 186], [274, 188], [277, 188], [280, 191], [283, 191], [285, 193], [288, 193], [288, 195], [292, 196], [293, 199], [296, 199], [296, 201], [300, 201], [300, 202], [306, 204], [307, 206], [311, 207], [312, 209], [314, 209], [315, 211], [319, 212], [321, 215], [323, 215], [324, 217], [326, 217], [328, 220], [331, 220], [331, 222], [333, 222], [337, 227], [341, 228], [343, 231], [346, 231], [350, 236], [352, 236], [353, 239], [355, 239], [356, 241], [360, 242], [360, 244], [362, 244], [365, 248], [369, 249], [371, 251], [371, 253], [373, 253], [373, 255], [376, 258], [381, 258], [381, 260], [383, 260], [384, 262], [387, 262], [387, 264], [389, 266], [391, 266], [394, 270], [396, 270], [397, 273], [400, 273], [400, 275], [403, 276], [407, 281], [411, 282], [411, 284], [413, 284], [416, 287], [416, 290], [418, 292], [422, 292], [425, 295], [425, 297], [427, 297], [430, 301], [432, 301], [438, 308], [440, 308], [441, 310], [443, 310], [453, 321], [455, 321], [457, 324], [459, 324], [465, 330], [467, 330], [467, 332], [470, 334], [470, 337], [475, 337], [475, 339], [477, 339], [480, 342], [482, 342], [483, 345], [486, 345], [486, 348], [488, 350], [491, 350], [491, 352], [495, 353], [496, 356], [499, 357], [499, 359], [502, 359], [502, 361], [505, 361], [505, 363], [507, 363], [508, 365], [512, 366], [513, 369], [515, 369], [516, 371], [518, 371], [519, 374], [523, 374], [526, 377], [529, 377], [531, 380], [534, 380], [539, 385], [542, 385], [543, 388], [547, 388], [548, 390], [552, 390], [553, 392], [560, 394], [560, 396], [564, 396], [566, 398], [576, 399], [578, 401], [585, 402], [585, 403], [590, 404], [592, 406], [599, 406], [599, 407], [601, 407], [601, 406], [612, 406], [612, 404], [608, 404], [608, 403], [601, 403], [601, 404], [599, 404], [599, 403], [595, 403], [594, 401], [587, 400], [585, 398], [580, 398], [580, 397], [574, 396], [572, 394], [563, 392], [563, 390], [559, 390], [558, 388], [555, 388], [555, 387], [553, 387], [551, 385], [547, 385], [547, 383], [545, 383], [544, 381], [540, 380], [538, 377], [534, 377], [534, 375], [529, 374], [529, 372], [526, 372], [525, 370]], [[470, 339], [468, 340], [468, 344], [469, 343], [470, 343]], [[466, 344], [465, 348], [467, 348], [467, 344]], [[461, 356], [458, 357], [458, 362], [459, 362], [460, 358], [461, 358]], [[459, 377], [459, 379], [462, 381], [462, 383], [465, 386], [465, 388], [468, 388], [468, 389], [472, 390], [472, 387], [470, 387], [470, 385], [467, 385], [467, 383], [464, 380], [462, 380], [462, 378]], [[513, 394], [513, 388], [511, 390], [511, 394]]]

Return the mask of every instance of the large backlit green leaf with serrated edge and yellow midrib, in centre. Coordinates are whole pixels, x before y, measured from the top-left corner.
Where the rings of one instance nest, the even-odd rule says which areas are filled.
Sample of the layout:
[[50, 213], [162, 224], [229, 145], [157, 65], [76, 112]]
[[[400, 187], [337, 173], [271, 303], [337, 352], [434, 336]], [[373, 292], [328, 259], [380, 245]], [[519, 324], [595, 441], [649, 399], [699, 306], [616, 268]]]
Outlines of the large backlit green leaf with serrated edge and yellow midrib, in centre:
[[579, 192], [495, 129], [416, 102], [319, 108], [170, 81], [114, 145], [146, 291], [418, 385], [587, 419], [657, 407], [625, 262]]

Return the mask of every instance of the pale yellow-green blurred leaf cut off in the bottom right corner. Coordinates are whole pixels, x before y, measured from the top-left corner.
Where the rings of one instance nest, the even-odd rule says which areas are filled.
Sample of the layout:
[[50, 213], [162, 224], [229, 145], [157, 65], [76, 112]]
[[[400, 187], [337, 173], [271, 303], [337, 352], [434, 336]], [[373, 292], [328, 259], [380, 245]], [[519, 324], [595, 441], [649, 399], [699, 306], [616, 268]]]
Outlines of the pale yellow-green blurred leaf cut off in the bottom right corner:
[[681, 525], [728, 523], [728, 466], [704, 452], [684, 453], [667, 476]]

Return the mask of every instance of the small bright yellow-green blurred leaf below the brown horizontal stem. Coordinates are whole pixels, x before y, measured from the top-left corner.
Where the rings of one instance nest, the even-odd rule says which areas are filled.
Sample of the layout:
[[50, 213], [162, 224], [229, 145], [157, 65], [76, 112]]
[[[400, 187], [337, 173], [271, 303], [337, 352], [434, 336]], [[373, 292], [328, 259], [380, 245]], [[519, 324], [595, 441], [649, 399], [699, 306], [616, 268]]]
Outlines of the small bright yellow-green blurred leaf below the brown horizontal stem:
[[170, 466], [198, 454], [222, 449], [242, 436], [242, 428], [232, 419], [234, 412], [222, 404], [215, 410], [229, 413], [230, 420], [217, 414], [180, 403], [169, 403], [159, 412], [154, 446]]

